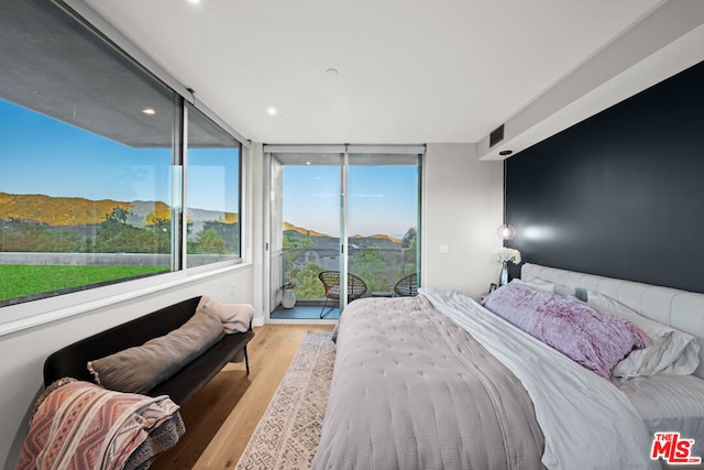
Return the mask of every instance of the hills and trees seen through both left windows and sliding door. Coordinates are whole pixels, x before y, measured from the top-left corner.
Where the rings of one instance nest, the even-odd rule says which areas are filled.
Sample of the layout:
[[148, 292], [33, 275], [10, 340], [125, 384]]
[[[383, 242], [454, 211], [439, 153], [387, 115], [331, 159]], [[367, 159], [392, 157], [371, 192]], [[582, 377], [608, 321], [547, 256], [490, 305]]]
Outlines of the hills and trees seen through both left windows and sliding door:
[[[170, 207], [162, 201], [0, 193], [0, 252], [65, 253], [68, 258], [59, 264], [74, 264], [74, 253], [169, 254], [170, 218]], [[289, 222], [282, 229], [283, 282], [294, 282], [299, 298], [321, 298], [318, 273], [339, 270], [339, 238]], [[187, 230], [189, 255], [240, 253], [238, 214], [189, 209]], [[351, 272], [364, 278], [370, 292], [389, 291], [398, 278], [415, 272], [416, 231], [409, 228], [403, 239], [355, 234], [348, 253]], [[108, 259], [95, 260], [110, 264]], [[154, 258], [156, 267], [163, 264], [160, 260]]]

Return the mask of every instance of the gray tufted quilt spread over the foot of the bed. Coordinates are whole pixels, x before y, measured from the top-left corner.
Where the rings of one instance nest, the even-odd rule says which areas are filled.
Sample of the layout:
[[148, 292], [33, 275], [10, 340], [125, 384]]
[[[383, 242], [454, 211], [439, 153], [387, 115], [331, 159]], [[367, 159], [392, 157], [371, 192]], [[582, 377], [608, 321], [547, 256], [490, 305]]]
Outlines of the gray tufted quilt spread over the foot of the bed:
[[425, 297], [348, 306], [314, 469], [534, 469], [542, 451], [520, 381]]

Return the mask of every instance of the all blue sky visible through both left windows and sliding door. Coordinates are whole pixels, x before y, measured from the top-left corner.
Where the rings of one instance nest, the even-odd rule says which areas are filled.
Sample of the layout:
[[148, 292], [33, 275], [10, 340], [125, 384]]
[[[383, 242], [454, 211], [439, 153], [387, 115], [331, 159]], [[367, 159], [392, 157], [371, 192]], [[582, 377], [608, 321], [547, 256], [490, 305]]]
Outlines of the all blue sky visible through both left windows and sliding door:
[[[239, 211], [233, 152], [188, 151], [189, 207]], [[170, 162], [170, 149], [133, 149], [0, 100], [0, 192], [168, 204], [179, 181]], [[350, 166], [351, 234], [400, 238], [416, 228], [417, 206], [416, 166]], [[285, 166], [284, 220], [339, 237], [340, 167]]]

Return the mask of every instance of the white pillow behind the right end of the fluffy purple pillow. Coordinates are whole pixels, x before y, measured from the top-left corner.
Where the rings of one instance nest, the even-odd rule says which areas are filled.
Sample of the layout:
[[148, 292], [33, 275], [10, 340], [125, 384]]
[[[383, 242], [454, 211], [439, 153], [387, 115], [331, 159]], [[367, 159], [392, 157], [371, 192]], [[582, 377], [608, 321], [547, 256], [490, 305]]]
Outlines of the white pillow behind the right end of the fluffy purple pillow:
[[597, 292], [588, 291], [586, 298], [590, 306], [636, 325], [652, 340], [649, 347], [631, 351], [616, 364], [612, 375], [689, 375], [698, 367], [700, 345], [693, 336], [640, 316], [624, 304]]

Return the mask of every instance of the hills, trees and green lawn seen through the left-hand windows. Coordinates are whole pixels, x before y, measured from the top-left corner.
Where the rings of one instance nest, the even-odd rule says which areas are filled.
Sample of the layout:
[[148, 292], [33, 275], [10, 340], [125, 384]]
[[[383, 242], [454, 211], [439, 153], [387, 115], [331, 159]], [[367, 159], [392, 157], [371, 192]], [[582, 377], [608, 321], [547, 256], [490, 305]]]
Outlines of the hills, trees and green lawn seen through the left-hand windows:
[[[0, 193], [0, 305], [172, 270], [162, 201]], [[240, 255], [238, 214], [190, 209], [187, 265]]]

